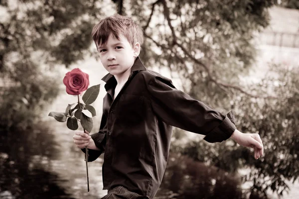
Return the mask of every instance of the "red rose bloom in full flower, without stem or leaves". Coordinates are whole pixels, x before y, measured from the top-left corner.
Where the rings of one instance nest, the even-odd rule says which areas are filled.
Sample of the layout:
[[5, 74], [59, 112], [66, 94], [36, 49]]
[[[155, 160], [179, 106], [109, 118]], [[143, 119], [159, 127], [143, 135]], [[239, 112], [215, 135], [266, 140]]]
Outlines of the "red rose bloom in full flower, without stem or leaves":
[[77, 96], [88, 89], [89, 75], [78, 68], [73, 69], [65, 74], [63, 84], [66, 86], [66, 93]]

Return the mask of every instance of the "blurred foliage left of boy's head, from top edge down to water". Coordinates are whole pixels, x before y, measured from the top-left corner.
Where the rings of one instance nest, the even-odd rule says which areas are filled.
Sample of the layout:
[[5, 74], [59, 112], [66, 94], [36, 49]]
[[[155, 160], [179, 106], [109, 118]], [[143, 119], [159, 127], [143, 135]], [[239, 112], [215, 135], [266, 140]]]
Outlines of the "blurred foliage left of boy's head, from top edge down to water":
[[93, 53], [91, 30], [106, 7], [94, 0], [1, 1], [0, 80], [8, 82], [0, 85], [2, 127], [25, 128], [58, 95], [58, 66]]

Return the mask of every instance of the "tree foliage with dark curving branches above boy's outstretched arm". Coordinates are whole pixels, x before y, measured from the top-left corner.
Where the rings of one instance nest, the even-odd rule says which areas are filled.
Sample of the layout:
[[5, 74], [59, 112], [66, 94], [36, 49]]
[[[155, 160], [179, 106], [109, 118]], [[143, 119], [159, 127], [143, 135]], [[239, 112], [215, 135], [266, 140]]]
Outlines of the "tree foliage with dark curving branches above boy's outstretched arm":
[[275, 1], [151, 2], [130, 3], [132, 17], [145, 28], [141, 57], [146, 66], [178, 73], [185, 92], [215, 108], [229, 109], [224, 104], [235, 88], [250, 93], [238, 87], [240, 77], [255, 61], [252, 39], [269, 24], [267, 8]]

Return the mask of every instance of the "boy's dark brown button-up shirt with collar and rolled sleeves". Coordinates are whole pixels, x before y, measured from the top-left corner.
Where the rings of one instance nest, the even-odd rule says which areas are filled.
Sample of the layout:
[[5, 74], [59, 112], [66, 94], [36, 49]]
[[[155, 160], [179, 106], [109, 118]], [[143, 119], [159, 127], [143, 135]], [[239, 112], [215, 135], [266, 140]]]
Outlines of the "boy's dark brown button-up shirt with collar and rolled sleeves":
[[108, 74], [102, 80], [107, 95], [100, 131], [92, 134], [101, 150], [89, 150], [89, 161], [105, 152], [104, 190], [123, 186], [152, 199], [166, 168], [172, 126], [206, 135], [208, 142], [226, 140], [236, 129], [232, 112], [223, 115], [175, 89], [139, 57], [115, 100], [116, 79]]

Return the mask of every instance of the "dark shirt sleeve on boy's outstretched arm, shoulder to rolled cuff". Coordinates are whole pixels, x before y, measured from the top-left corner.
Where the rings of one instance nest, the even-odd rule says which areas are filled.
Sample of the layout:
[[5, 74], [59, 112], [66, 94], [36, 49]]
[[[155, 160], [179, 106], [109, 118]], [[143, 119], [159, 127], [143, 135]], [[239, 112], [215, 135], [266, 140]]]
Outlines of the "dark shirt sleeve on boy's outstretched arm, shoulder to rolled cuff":
[[165, 123], [205, 135], [207, 142], [222, 142], [235, 131], [233, 112], [227, 115], [177, 90], [171, 80], [155, 75], [147, 84], [151, 106]]

